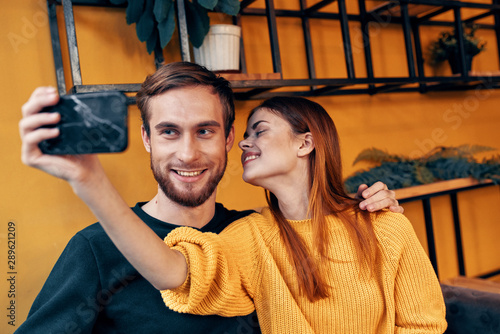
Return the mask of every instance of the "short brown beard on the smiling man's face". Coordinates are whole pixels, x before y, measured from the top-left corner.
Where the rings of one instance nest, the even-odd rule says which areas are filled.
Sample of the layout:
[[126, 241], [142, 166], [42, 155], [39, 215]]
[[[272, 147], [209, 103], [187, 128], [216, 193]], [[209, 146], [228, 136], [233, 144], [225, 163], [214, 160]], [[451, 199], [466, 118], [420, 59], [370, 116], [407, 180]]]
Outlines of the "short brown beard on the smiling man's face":
[[[211, 178], [206, 182], [203, 189], [201, 189], [198, 193], [192, 192], [193, 186], [190, 184], [186, 184], [186, 189], [179, 191], [176, 189], [172, 180], [168, 177], [170, 173], [171, 167], [168, 165], [164, 170], [158, 164], [153, 162], [153, 154], [151, 153], [151, 170], [153, 171], [154, 178], [160, 189], [163, 193], [172, 201], [187, 207], [197, 207], [205, 203], [205, 201], [213, 194], [217, 185], [219, 184], [222, 176], [224, 176], [224, 171], [226, 170], [227, 165], [227, 152], [224, 157], [224, 163], [220, 166], [218, 170], [215, 171], [215, 174], [211, 176]], [[178, 166], [176, 166], [178, 167]], [[193, 166], [186, 166], [193, 167]], [[190, 168], [186, 168], [190, 169]], [[191, 168], [193, 169], [193, 168]]]

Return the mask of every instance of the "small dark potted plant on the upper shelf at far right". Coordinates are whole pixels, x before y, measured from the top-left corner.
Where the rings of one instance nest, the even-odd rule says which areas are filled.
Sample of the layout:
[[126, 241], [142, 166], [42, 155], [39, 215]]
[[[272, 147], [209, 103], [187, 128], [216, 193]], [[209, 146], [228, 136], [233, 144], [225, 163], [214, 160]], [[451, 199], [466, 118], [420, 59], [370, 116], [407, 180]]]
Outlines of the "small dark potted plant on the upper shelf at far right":
[[[477, 25], [470, 27], [463, 26], [462, 41], [465, 51], [465, 65], [467, 71], [470, 71], [472, 66], [472, 58], [482, 52], [486, 47], [486, 42], [481, 41], [474, 36], [477, 30]], [[445, 60], [450, 63], [453, 74], [460, 73], [460, 58], [458, 51], [458, 41], [456, 30], [452, 32], [444, 31], [439, 35], [439, 38], [429, 45], [429, 63], [437, 65]]]

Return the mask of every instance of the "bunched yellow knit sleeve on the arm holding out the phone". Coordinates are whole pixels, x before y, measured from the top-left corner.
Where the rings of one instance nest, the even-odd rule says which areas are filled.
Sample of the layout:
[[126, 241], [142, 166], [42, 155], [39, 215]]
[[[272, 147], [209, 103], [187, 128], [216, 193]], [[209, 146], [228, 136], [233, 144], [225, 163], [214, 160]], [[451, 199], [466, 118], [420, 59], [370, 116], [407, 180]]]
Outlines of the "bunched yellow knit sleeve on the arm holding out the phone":
[[[234, 224], [234, 223], [233, 223]], [[254, 311], [243, 272], [245, 251], [236, 249], [225, 231], [202, 233], [189, 227], [172, 231], [165, 242], [186, 258], [188, 277], [183, 285], [162, 291], [165, 304], [180, 313], [218, 314], [224, 317], [247, 315]], [[226, 238], [224, 238], [226, 236]], [[243, 245], [242, 248], [245, 248]], [[239, 255], [243, 254], [243, 257]]]

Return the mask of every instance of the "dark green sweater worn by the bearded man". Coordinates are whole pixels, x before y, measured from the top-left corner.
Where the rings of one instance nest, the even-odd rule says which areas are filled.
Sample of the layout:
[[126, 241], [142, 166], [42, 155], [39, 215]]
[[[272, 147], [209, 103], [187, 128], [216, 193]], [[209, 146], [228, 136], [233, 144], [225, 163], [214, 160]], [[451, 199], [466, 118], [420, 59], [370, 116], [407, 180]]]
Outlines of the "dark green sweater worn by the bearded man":
[[[133, 211], [160, 238], [177, 225]], [[252, 211], [216, 205], [202, 232], [221, 232]], [[160, 292], [135, 270], [99, 224], [78, 232], [68, 243], [35, 299], [22, 333], [260, 333], [255, 313], [224, 318], [176, 313]]]

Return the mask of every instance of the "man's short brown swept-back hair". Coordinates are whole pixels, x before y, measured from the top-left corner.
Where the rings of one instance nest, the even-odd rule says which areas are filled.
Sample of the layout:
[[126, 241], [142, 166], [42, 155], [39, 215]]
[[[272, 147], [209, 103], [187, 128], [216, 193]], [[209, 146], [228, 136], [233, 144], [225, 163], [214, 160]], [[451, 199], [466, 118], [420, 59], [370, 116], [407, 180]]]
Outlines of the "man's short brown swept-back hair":
[[174, 62], [161, 66], [155, 73], [149, 75], [137, 92], [137, 107], [141, 111], [142, 124], [148, 137], [151, 135], [149, 126], [151, 98], [170, 89], [198, 85], [212, 87], [212, 91], [219, 96], [225, 134], [226, 137], [229, 135], [234, 123], [234, 95], [229, 81], [198, 64]]

